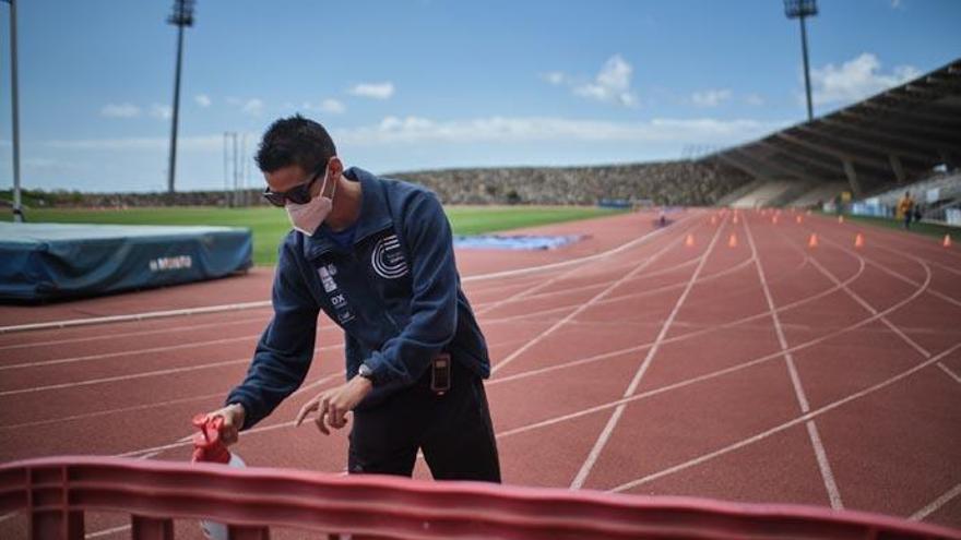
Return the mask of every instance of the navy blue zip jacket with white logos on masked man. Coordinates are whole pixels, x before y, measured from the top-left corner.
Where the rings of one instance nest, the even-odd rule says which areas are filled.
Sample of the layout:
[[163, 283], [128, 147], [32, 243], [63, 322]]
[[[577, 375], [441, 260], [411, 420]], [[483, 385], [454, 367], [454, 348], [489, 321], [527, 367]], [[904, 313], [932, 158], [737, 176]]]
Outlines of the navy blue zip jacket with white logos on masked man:
[[313, 359], [320, 310], [344, 329], [347, 379], [373, 371], [370, 408], [426, 372], [447, 351], [490, 375], [487, 344], [461, 290], [450, 224], [434, 193], [358, 168], [344, 172], [363, 190], [354, 244], [292, 230], [280, 248], [274, 316], [244, 382], [227, 396], [246, 410], [245, 429], [271, 413], [304, 382]]

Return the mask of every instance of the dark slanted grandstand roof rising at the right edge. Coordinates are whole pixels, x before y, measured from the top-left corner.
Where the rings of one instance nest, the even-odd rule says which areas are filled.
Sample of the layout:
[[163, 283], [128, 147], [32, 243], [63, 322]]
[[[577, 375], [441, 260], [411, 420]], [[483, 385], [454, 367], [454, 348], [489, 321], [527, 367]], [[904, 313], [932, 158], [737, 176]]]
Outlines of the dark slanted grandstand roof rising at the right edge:
[[855, 196], [961, 166], [961, 59], [830, 115], [700, 159], [763, 180], [846, 180]]

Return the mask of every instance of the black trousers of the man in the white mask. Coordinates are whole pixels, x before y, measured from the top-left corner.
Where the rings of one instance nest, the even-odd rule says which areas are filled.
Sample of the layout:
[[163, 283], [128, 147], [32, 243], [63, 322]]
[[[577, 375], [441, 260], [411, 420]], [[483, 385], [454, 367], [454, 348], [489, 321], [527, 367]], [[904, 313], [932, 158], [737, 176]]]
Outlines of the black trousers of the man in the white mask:
[[430, 391], [430, 369], [375, 408], [354, 411], [351, 473], [410, 477], [423, 449], [437, 480], [500, 482], [497, 442], [482, 379], [453, 362], [451, 389]]

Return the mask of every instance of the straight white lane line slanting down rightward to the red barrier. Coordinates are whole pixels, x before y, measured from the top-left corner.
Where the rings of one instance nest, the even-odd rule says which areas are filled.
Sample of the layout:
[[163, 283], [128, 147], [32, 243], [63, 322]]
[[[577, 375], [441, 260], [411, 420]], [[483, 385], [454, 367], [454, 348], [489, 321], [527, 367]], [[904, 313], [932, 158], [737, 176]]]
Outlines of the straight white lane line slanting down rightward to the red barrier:
[[[787, 338], [784, 336], [784, 328], [781, 326], [781, 317], [778, 316], [778, 310], [774, 305], [774, 298], [771, 296], [771, 288], [768, 286], [768, 277], [764, 274], [764, 267], [758, 256], [758, 249], [755, 244], [755, 237], [751, 232], [749, 221], [750, 219], [745, 219], [744, 227], [747, 230], [747, 241], [750, 245], [751, 253], [754, 254], [758, 278], [761, 281], [761, 289], [764, 291], [764, 299], [768, 302], [768, 309], [771, 311], [771, 320], [774, 322], [774, 332], [778, 335], [778, 343], [781, 345], [781, 350], [784, 352], [784, 363], [787, 367], [787, 373], [791, 375], [791, 384], [794, 386], [794, 395], [797, 398], [800, 411], [806, 413], [810, 411], [810, 405], [805, 395], [804, 385], [800, 382], [800, 375], [797, 373], [797, 367], [794, 364], [794, 356], [787, 350]], [[811, 263], [816, 265], [818, 264], [814, 259], [811, 259]], [[834, 285], [839, 284], [838, 280], [834, 280]], [[844, 503], [841, 501], [841, 491], [838, 489], [838, 482], [834, 480], [834, 472], [831, 470], [831, 463], [828, 460], [828, 453], [824, 449], [824, 445], [821, 443], [821, 437], [818, 434], [818, 427], [815, 424], [814, 420], [808, 420], [807, 433], [815, 451], [818, 469], [820, 469], [821, 472], [821, 481], [824, 483], [824, 491], [828, 493], [828, 500], [831, 502], [831, 507], [834, 509], [843, 509]]]

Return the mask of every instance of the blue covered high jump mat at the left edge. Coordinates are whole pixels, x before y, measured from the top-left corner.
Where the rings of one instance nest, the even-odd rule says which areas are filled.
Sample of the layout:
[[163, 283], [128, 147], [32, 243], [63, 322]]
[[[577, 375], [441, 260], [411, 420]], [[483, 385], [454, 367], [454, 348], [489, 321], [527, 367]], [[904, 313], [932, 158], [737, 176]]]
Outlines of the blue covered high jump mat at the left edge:
[[224, 277], [252, 264], [249, 229], [0, 223], [0, 301], [88, 297]]

